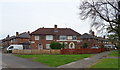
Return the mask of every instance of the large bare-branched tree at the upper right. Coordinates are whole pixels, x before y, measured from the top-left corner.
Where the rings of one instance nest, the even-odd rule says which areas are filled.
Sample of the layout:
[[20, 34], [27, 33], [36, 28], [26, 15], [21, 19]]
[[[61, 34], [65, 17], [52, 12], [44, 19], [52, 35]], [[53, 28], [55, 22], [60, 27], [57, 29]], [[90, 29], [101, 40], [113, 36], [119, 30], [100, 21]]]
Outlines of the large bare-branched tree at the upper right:
[[[80, 5], [81, 19], [91, 18], [91, 26], [98, 31], [108, 29], [117, 34], [120, 44], [120, 1], [89, 0]], [[120, 45], [119, 45], [120, 47]]]

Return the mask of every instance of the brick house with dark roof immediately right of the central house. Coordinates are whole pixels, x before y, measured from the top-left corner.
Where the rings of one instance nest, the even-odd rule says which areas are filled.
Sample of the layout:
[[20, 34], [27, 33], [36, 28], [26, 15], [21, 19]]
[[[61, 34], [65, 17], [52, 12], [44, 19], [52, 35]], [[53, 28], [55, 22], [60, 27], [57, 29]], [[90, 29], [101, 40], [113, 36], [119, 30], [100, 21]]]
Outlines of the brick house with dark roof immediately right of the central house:
[[88, 48], [91, 48], [93, 46], [103, 47], [104, 45], [108, 44], [108, 41], [107, 39], [105, 39], [105, 37], [102, 38], [95, 36], [94, 31], [90, 31], [90, 34], [84, 33], [83, 35], [80, 36], [80, 39], [81, 47], [83, 46], [84, 43], [87, 43]]

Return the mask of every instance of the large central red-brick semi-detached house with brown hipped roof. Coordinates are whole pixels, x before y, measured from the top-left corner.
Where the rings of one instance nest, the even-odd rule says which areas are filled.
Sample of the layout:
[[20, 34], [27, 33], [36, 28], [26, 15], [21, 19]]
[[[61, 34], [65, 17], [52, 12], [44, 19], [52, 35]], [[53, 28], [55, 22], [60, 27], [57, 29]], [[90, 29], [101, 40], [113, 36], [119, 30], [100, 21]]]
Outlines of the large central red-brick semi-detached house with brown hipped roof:
[[39, 28], [30, 34], [31, 48], [50, 49], [50, 43], [55, 41], [65, 44], [65, 48], [80, 48], [80, 35], [71, 28]]

